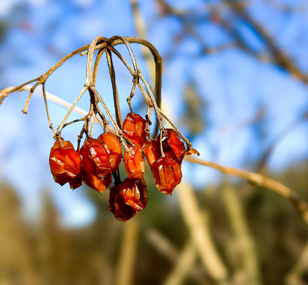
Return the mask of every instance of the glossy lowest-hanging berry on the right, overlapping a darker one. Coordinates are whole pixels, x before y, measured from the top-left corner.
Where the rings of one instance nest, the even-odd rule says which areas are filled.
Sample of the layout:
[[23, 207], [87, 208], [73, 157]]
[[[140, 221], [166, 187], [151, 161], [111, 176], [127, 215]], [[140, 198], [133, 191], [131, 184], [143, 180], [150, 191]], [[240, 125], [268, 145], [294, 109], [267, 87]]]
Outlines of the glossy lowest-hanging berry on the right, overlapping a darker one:
[[148, 203], [148, 191], [144, 178], [138, 182], [129, 178], [124, 179], [120, 184], [119, 193], [124, 203], [131, 206], [136, 212], [145, 209]]

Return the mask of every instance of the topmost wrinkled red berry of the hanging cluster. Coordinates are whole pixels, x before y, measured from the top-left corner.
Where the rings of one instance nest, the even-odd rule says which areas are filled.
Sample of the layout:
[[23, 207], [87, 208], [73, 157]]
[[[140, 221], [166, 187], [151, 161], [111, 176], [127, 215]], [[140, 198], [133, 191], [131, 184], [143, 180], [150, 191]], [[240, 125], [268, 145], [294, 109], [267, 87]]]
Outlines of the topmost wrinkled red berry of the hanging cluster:
[[133, 143], [138, 144], [141, 148], [147, 141], [145, 129], [146, 120], [136, 113], [128, 113], [123, 125], [122, 130], [125, 136]]

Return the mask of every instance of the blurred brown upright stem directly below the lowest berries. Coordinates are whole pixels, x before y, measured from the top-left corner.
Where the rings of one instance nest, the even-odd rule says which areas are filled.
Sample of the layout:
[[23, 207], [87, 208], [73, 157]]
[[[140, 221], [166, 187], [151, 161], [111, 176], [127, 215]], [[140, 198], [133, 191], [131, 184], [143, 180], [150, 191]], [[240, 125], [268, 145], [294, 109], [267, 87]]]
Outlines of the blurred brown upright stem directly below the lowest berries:
[[138, 218], [131, 219], [124, 225], [117, 271], [117, 285], [134, 284], [138, 230]]

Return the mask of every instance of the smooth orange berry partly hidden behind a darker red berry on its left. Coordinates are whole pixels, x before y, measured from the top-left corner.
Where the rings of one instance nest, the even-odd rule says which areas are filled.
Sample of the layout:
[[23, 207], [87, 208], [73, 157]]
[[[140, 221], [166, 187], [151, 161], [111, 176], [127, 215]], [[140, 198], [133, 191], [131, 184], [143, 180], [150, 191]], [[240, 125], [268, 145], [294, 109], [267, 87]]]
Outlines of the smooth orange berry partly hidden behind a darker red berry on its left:
[[122, 144], [112, 132], [107, 132], [105, 135], [101, 134], [97, 139], [106, 143], [110, 152], [108, 166], [111, 168], [111, 173], [114, 173], [122, 159]]

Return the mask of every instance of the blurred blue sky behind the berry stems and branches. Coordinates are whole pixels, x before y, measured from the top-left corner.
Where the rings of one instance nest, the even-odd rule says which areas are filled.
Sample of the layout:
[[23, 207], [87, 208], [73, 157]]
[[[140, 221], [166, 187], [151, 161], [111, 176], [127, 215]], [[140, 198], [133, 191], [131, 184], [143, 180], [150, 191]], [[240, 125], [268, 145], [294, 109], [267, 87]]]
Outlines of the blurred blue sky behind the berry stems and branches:
[[[228, 1], [147, 0], [139, 1], [139, 9], [146, 25], [146, 39], [163, 58], [162, 109], [191, 139], [200, 158], [256, 171], [260, 158], [279, 132], [307, 112], [308, 87], [275, 63], [265, 40], [225, 2]], [[170, 12], [166, 3], [174, 11]], [[308, 2], [246, 3], [249, 17], [263, 26], [302, 73], [308, 73]], [[97, 36], [137, 36], [128, 0], [0, 0], [0, 29], [0, 89], [39, 77], [63, 56]], [[123, 45], [116, 49], [129, 59]], [[132, 44], [132, 49], [141, 72], [151, 83], [140, 46]], [[115, 56], [113, 59], [124, 118], [129, 112], [126, 97], [132, 78], [120, 60]], [[47, 80], [47, 92], [73, 102], [85, 83], [86, 61], [85, 56], [76, 55], [64, 63]], [[114, 112], [105, 55], [97, 89]], [[64, 225], [87, 225], [95, 218], [94, 205], [82, 189], [72, 192], [68, 185], [61, 187], [50, 173], [48, 157], [54, 139], [41, 87], [34, 92], [28, 114], [24, 115], [20, 111], [27, 95], [10, 94], [0, 107], [0, 179], [18, 190], [27, 218], [36, 218], [41, 193], [48, 190]], [[85, 93], [77, 105], [88, 110], [88, 100]], [[193, 102], [195, 116], [185, 120], [191, 112], [189, 101]], [[132, 105], [145, 115], [140, 92], [136, 92]], [[57, 128], [67, 110], [49, 103], [49, 111]], [[72, 113], [69, 120], [77, 118], [79, 115]], [[63, 137], [76, 146], [81, 127], [82, 123], [78, 123], [65, 128]], [[270, 157], [270, 171], [280, 172], [307, 159], [307, 127], [303, 121], [281, 140]], [[102, 128], [96, 126], [94, 137], [101, 132]], [[183, 180], [200, 189], [221, 180], [217, 171], [184, 161], [182, 172]], [[168, 198], [171, 201], [173, 196]]]

